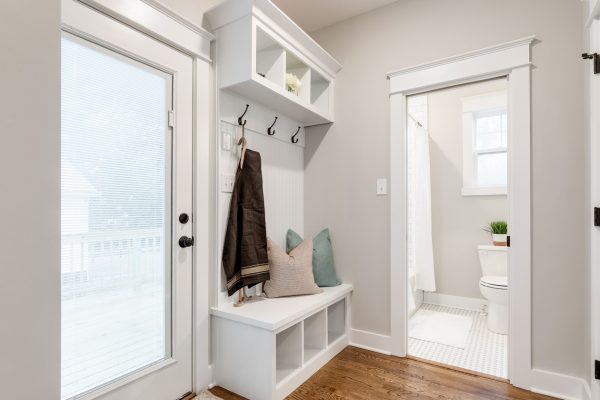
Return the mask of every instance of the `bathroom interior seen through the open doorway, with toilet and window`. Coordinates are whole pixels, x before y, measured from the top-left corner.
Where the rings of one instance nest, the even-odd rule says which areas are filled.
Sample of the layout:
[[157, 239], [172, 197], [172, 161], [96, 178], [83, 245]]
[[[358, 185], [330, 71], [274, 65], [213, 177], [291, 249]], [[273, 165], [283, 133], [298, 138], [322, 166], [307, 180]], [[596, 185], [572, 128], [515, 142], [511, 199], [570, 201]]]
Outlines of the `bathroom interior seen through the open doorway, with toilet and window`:
[[508, 379], [508, 82], [406, 98], [407, 355]]

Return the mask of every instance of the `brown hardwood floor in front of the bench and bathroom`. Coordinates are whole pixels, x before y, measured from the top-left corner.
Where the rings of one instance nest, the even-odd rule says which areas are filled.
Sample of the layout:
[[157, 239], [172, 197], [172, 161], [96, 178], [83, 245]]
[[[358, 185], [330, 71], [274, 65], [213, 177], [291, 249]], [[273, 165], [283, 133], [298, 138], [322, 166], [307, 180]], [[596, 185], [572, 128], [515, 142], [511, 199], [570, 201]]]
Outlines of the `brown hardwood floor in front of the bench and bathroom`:
[[[211, 392], [225, 400], [244, 399], [219, 387]], [[346, 347], [288, 399], [543, 400], [552, 397], [421, 361]]]

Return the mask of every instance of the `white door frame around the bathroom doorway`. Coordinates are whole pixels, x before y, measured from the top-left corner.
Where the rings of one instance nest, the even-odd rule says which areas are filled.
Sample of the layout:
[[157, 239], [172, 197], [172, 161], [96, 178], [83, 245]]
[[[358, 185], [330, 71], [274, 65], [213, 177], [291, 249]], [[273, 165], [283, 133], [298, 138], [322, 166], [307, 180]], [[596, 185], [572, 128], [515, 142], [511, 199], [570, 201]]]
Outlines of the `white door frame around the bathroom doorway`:
[[394, 71], [390, 80], [391, 352], [407, 347], [406, 97], [448, 86], [508, 77], [509, 379], [531, 388], [530, 36]]

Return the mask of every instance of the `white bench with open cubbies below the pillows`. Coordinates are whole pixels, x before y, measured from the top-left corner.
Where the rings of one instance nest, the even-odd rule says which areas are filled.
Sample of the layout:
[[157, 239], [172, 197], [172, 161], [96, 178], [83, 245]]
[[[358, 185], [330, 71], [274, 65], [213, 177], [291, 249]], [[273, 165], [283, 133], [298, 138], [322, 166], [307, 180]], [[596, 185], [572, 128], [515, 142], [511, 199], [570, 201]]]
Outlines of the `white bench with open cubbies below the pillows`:
[[212, 308], [215, 382], [253, 400], [285, 398], [348, 345], [352, 290]]

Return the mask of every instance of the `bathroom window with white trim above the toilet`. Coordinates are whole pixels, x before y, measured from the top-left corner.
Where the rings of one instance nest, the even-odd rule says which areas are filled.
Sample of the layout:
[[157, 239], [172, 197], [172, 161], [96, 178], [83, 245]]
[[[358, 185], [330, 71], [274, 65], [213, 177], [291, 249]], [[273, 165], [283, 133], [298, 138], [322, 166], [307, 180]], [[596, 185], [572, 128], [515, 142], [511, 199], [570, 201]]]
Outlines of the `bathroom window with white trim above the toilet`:
[[508, 161], [506, 91], [463, 103], [463, 196], [505, 195]]

